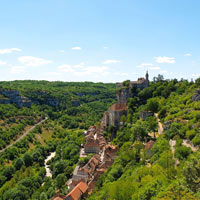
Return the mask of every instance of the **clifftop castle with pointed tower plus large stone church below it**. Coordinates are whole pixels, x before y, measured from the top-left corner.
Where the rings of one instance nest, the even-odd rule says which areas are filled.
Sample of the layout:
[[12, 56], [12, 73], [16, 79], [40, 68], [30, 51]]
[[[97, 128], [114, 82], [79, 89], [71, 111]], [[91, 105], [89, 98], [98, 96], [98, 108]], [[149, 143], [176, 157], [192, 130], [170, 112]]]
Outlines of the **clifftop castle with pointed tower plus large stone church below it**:
[[108, 111], [104, 113], [101, 120], [101, 127], [107, 129], [109, 126], [114, 126], [119, 129], [122, 122], [121, 117], [127, 116], [128, 112], [128, 98], [133, 97], [133, 90], [139, 88], [143, 90], [149, 86], [149, 74], [146, 72], [145, 78], [138, 78], [137, 81], [125, 81], [116, 83], [117, 103], [113, 104]]

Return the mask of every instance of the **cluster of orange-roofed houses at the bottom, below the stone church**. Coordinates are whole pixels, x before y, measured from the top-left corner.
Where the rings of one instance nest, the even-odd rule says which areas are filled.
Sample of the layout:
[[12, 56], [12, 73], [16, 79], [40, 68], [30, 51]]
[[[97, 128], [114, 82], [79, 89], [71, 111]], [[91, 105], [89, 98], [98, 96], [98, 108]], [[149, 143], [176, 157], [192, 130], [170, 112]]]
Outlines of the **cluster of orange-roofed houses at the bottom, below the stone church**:
[[118, 149], [106, 142], [101, 128], [91, 126], [85, 133], [85, 138], [82, 157], [91, 153], [94, 156], [86, 165], [75, 167], [72, 178], [67, 182], [70, 193], [66, 196], [56, 196], [53, 200], [78, 200], [87, 196], [93, 191], [99, 176], [113, 164]]

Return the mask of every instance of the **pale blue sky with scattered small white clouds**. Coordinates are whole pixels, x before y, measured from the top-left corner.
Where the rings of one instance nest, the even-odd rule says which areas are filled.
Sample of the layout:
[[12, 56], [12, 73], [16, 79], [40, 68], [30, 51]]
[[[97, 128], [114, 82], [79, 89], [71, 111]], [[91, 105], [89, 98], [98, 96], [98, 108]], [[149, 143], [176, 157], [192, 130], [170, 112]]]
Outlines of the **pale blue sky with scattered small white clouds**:
[[0, 81], [200, 77], [199, 0], [0, 0]]

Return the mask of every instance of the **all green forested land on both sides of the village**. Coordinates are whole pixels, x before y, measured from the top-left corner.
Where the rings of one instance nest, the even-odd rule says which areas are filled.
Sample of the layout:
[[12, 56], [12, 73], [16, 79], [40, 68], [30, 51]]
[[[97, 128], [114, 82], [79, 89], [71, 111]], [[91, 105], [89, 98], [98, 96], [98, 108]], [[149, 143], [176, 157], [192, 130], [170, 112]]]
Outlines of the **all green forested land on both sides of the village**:
[[[116, 102], [115, 85], [47, 81], [1, 82], [1, 91], [19, 91], [31, 107], [0, 104], [0, 199], [51, 199], [67, 194], [67, 180], [79, 160], [82, 134]], [[134, 91], [121, 128], [104, 131], [119, 147], [113, 165], [98, 179], [91, 200], [200, 199], [200, 79], [164, 80]], [[1, 96], [5, 99], [5, 95]], [[142, 119], [141, 113], [147, 116]], [[116, 137], [113, 137], [116, 136]], [[52, 171], [47, 176], [45, 159]]]

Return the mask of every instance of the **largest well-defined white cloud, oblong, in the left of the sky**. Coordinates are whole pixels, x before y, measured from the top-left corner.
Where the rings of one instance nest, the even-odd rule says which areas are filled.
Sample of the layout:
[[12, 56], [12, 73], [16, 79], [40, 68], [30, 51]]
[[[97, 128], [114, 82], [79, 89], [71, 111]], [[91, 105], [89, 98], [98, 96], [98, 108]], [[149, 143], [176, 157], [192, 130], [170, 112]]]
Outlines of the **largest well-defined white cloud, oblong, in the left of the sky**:
[[51, 60], [45, 60], [43, 58], [38, 58], [38, 57], [33, 57], [33, 56], [21, 56], [18, 58], [18, 61], [21, 64], [24, 64], [30, 67], [37, 67], [40, 65], [46, 65], [53, 62]]

